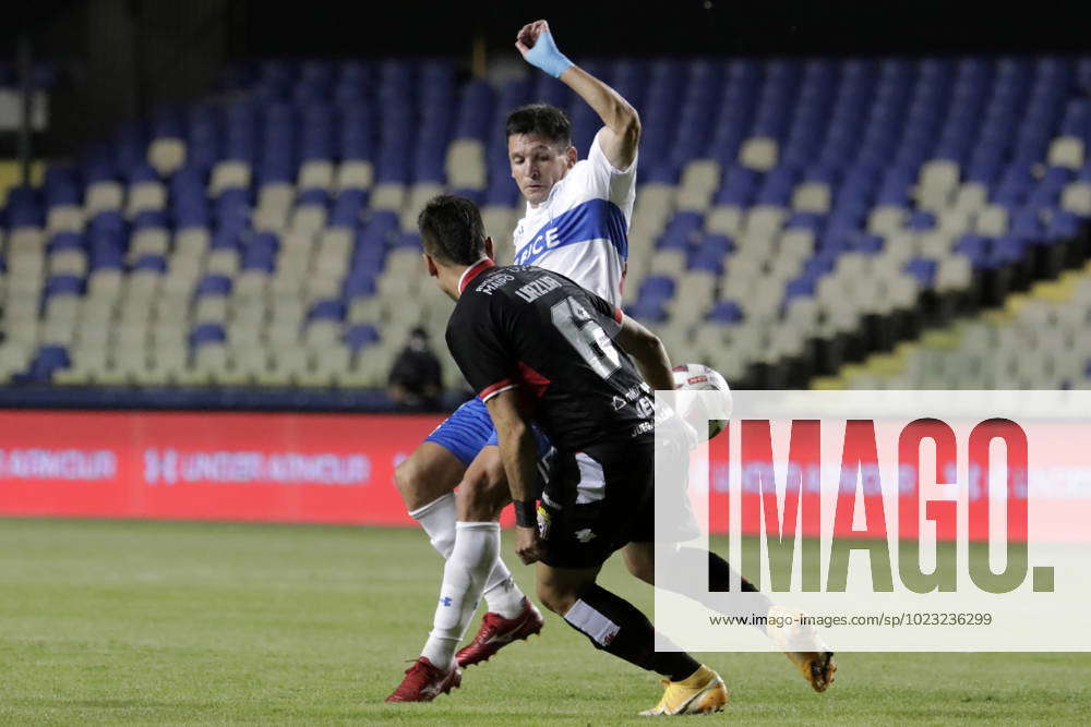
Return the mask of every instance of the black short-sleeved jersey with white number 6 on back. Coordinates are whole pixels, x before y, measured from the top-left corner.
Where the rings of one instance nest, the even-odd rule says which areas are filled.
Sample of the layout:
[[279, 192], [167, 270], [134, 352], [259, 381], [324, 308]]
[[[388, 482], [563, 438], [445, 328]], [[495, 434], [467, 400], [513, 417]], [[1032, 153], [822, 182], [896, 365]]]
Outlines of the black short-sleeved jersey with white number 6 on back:
[[459, 289], [447, 347], [483, 401], [518, 388], [562, 451], [654, 438], [654, 392], [613, 342], [620, 310], [558, 272], [488, 259]]

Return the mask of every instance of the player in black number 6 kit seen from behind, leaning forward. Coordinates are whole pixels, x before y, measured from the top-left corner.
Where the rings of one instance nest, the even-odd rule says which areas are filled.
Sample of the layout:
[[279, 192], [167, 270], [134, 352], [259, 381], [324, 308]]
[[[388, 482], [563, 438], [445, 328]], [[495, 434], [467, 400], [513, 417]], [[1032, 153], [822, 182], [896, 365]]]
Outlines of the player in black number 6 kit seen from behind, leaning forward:
[[[673, 388], [659, 339], [560, 274], [495, 266], [467, 199], [436, 197], [420, 228], [429, 274], [457, 301], [447, 346], [496, 427], [516, 552], [539, 564], [539, 599], [596, 647], [667, 677], [645, 714], [718, 711], [727, 702], [719, 675], [688, 654], [656, 652], [644, 614], [596, 583], [615, 550], [652, 547], [648, 385]], [[558, 449], [540, 510], [531, 422]]]

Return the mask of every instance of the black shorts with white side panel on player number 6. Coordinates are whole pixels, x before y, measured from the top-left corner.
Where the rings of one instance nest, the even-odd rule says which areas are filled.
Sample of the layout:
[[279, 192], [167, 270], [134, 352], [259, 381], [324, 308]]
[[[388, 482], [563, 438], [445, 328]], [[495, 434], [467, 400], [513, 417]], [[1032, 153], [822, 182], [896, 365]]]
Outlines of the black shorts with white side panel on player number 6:
[[655, 541], [655, 443], [558, 452], [538, 510], [542, 562], [594, 568], [628, 543]]

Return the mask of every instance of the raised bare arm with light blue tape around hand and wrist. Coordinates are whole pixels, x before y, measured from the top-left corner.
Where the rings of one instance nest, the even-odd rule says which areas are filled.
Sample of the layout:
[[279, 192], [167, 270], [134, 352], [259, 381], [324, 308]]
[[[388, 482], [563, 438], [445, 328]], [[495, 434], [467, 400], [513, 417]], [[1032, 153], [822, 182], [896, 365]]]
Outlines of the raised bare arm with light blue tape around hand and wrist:
[[640, 116], [636, 109], [616, 90], [565, 58], [546, 21], [524, 25], [515, 47], [528, 63], [560, 78], [595, 109], [606, 124], [599, 133], [602, 153], [615, 169], [627, 169], [640, 143]]

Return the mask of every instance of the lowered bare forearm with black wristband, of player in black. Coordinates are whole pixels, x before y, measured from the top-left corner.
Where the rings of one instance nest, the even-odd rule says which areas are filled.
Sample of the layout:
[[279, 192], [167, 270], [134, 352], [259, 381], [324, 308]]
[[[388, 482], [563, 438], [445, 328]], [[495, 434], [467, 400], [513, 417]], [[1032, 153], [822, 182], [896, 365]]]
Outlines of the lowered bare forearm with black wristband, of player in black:
[[525, 564], [541, 558], [538, 522], [535, 510], [538, 482], [538, 448], [535, 435], [519, 408], [518, 389], [508, 389], [485, 401], [489, 416], [496, 427], [500, 458], [507, 475], [507, 487], [515, 505], [515, 553]]

